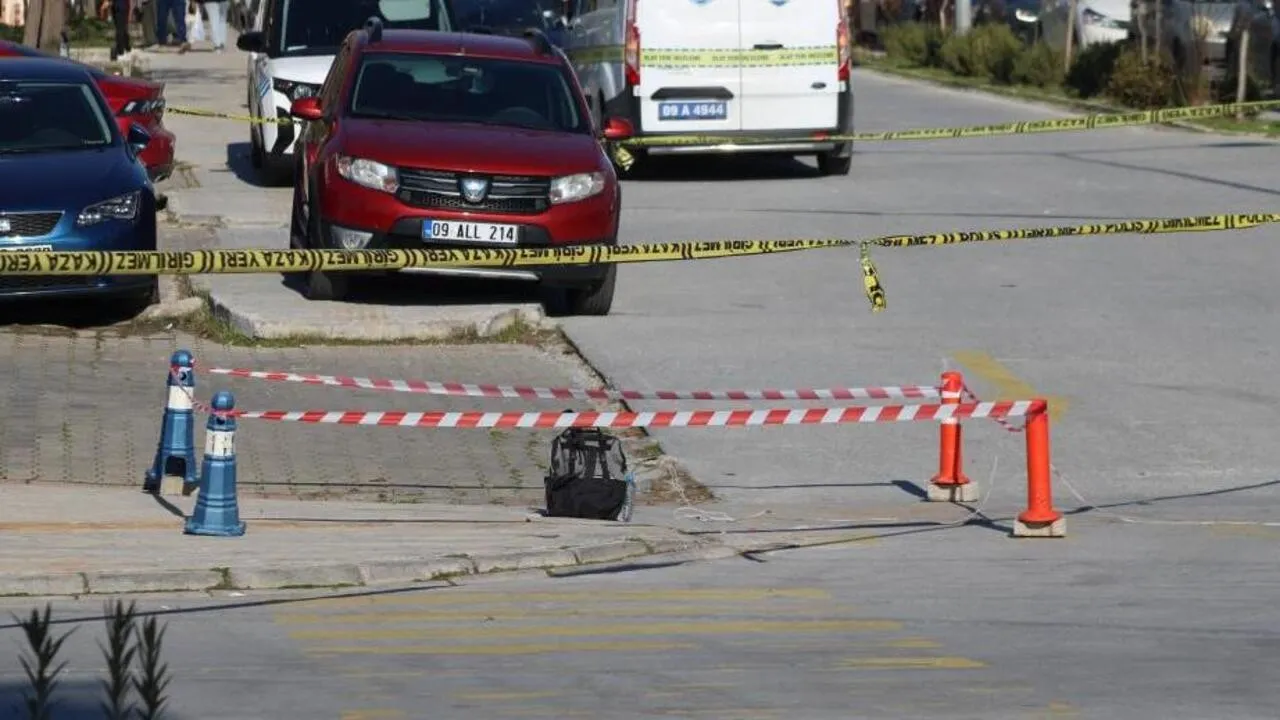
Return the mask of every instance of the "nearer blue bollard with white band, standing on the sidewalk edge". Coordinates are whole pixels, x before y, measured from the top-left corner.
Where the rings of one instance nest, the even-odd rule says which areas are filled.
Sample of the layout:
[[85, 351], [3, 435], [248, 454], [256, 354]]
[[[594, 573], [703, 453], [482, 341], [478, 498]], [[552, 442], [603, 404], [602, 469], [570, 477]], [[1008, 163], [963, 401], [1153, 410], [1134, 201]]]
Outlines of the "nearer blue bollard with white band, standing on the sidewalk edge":
[[244, 534], [236, 500], [236, 418], [223, 415], [236, 409], [236, 397], [219, 391], [214, 415], [205, 425], [205, 459], [200, 465], [200, 497], [187, 518], [188, 536], [238, 537]]

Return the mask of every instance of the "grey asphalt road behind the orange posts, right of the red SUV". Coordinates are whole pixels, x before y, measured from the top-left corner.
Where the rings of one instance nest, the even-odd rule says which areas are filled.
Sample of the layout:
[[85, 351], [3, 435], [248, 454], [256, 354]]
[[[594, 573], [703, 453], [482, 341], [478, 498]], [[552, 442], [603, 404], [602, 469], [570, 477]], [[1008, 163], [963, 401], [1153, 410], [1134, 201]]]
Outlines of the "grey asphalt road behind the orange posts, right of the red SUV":
[[[1056, 114], [867, 72], [854, 87], [863, 131]], [[622, 227], [628, 242], [873, 237], [1271, 211], [1277, 159], [1280, 146], [1265, 141], [1124, 128], [863, 143], [841, 179], [790, 160], [671, 160], [626, 184]], [[1055, 462], [1091, 501], [1224, 491], [1149, 511], [1256, 519], [1277, 482], [1274, 236], [881, 250], [888, 310], [878, 315], [861, 296], [854, 251], [631, 265], [611, 316], [566, 328], [620, 387], [906, 384], [961, 369], [984, 400], [1050, 397], [1060, 411]], [[640, 404], [658, 405], [671, 404]], [[694, 405], [707, 404], [684, 407]], [[986, 480], [995, 468], [1001, 488], [991, 501], [1015, 506], [1020, 438], [989, 423], [968, 432], [969, 474]], [[859, 425], [658, 437], [731, 502], [831, 512], [910, 500], [899, 487], [936, 471], [934, 433]]]

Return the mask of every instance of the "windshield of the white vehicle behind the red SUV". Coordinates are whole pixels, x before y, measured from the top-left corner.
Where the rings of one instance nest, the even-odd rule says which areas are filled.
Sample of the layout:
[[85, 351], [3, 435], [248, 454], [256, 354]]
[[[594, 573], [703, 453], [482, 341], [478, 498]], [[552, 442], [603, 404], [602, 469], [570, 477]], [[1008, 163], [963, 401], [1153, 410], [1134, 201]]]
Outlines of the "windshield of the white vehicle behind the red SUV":
[[387, 29], [453, 29], [444, 0], [282, 0], [271, 44], [279, 56], [333, 55], [369, 18]]

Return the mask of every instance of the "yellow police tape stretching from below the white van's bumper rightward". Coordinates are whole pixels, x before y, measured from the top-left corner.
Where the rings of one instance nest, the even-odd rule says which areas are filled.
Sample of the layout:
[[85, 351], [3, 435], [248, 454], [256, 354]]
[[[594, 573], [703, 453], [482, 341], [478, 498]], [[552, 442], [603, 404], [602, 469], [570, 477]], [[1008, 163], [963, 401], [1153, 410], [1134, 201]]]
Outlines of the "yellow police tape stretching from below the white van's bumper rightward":
[[[1048, 120], [1021, 120], [989, 126], [964, 126], [952, 128], [892, 129], [884, 132], [854, 133], [815, 133], [813, 140], [822, 142], [888, 142], [908, 140], [955, 140], [963, 137], [993, 137], [1005, 135], [1036, 135], [1046, 132], [1079, 132], [1110, 129], [1133, 126], [1152, 126], [1171, 120], [1197, 120], [1221, 118], [1238, 113], [1257, 113], [1280, 108], [1280, 100], [1258, 100], [1253, 102], [1229, 102], [1222, 105], [1201, 105], [1193, 108], [1167, 108], [1164, 110], [1138, 110], [1133, 113], [1110, 113], [1084, 115], [1079, 118], [1056, 118]], [[613, 143], [613, 159], [620, 168], [627, 169], [635, 164], [635, 156], [627, 147], [689, 147], [732, 145], [750, 147], [778, 142], [777, 137], [751, 137], [714, 133], [655, 135], [636, 137]]]

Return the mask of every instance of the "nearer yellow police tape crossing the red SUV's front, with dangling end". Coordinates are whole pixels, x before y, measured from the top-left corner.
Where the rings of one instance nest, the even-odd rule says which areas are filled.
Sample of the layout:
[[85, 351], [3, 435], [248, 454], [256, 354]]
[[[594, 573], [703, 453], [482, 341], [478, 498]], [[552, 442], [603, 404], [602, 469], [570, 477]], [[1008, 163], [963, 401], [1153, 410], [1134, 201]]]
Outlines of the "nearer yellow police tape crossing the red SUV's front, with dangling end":
[[872, 310], [883, 310], [884, 290], [870, 259], [870, 247], [960, 245], [1002, 240], [1078, 237], [1102, 234], [1156, 234], [1216, 232], [1280, 223], [1280, 213], [1151, 218], [1004, 231], [933, 234], [896, 234], [870, 240], [728, 240], [649, 242], [621, 246], [568, 246], [520, 249], [397, 249], [397, 250], [177, 250], [177, 251], [37, 251], [0, 252], [5, 275], [189, 275], [224, 273], [303, 273], [346, 270], [399, 270], [403, 268], [524, 268], [545, 265], [600, 265], [713, 260], [772, 255], [832, 247], [860, 249], [864, 291]]

